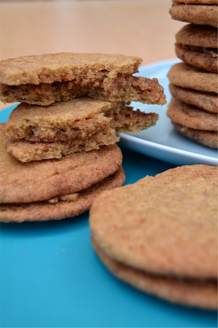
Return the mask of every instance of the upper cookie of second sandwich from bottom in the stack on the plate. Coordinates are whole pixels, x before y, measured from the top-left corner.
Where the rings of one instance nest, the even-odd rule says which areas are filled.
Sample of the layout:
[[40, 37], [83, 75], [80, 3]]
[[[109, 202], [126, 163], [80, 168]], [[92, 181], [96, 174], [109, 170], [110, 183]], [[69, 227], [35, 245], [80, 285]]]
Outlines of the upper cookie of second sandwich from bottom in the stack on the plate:
[[217, 74], [185, 63], [178, 63], [171, 67], [167, 74], [169, 81], [179, 87], [203, 92], [217, 93]]

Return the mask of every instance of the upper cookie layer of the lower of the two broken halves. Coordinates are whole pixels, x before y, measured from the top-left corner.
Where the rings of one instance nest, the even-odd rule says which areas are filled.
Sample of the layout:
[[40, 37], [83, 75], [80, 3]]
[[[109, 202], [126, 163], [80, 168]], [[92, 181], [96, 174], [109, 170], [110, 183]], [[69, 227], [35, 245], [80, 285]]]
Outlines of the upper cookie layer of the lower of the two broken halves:
[[6, 133], [9, 137], [30, 141], [88, 138], [109, 124], [110, 118], [105, 117], [105, 113], [112, 108], [118, 111], [120, 107], [120, 103], [88, 97], [59, 101], [50, 106], [21, 103], [10, 114]]

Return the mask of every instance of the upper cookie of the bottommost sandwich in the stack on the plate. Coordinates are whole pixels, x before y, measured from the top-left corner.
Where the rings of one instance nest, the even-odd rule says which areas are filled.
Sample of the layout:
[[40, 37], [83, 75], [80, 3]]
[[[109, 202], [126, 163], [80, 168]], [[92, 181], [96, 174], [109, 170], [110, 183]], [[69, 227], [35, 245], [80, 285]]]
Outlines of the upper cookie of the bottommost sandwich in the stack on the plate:
[[217, 131], [217, 114], [187, 105], [174, 97], [171, 99], [166, 115], [172, 121], [188, 128]]

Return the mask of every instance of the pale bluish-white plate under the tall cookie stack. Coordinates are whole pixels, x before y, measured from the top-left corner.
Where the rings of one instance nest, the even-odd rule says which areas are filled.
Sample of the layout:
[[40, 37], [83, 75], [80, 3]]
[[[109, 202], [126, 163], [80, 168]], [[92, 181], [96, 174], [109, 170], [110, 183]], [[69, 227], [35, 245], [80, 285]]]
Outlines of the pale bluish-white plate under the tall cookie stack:
[[[171, 59], [143, 66], [136, 75], [157, 77], [164, 88], [167, 103], [169, 103], [171, 94], [168, 90], [169, 81], [166, 75], [170, 67], [179, 61]], [[132, 106], [147, 113], [158, 113], [159, 119], [155, 127], [135, 135], [120, 133], [120, 146], [176, 165], [207, 164], [217, 166], [217, 150], [200, 145], [176, 132], [171, 120], [165, 114], [167, 105], [132, 103]]]

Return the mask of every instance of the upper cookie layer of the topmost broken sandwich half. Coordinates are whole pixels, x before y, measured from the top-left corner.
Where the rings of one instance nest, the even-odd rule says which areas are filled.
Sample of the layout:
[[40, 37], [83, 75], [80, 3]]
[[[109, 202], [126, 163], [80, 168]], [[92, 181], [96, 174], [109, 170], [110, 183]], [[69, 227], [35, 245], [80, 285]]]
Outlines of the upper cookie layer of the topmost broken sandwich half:
[[1, 83], [21, 84], [53, 83], [75, 78], [116, 77], [118, 73], [133, 74], [142, 59], [122, 54], [70, 53], [23, 56], [0, 62]]

